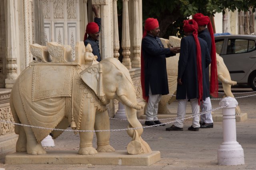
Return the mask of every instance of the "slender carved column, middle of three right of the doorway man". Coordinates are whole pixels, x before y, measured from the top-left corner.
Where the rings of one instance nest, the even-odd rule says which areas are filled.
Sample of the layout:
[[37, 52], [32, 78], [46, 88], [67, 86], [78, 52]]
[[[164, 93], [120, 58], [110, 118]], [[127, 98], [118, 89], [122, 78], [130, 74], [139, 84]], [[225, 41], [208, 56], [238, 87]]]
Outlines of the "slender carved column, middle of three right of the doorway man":
[[123, 18], [122, 18], [122, 54], [123, 61], [122, 64], [126, 68], [131, 69], [132, 63], [130, 60], [130, 32], [129, 32], [129, 14], [128, 14], [128, 0], [123, 1]]

